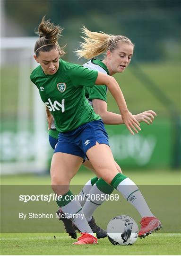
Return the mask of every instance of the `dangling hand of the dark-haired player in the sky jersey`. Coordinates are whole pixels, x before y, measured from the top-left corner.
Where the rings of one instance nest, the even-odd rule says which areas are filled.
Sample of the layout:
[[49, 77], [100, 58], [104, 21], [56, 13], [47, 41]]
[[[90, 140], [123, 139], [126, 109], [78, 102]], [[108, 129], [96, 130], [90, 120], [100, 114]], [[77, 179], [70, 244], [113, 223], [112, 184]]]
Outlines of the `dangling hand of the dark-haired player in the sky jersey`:
[[125, 123], [126, 127], [129, 129], [132, 135], [134, 135], [134, 131], [138, 133], [138, 131], [141, 130], [141, 128], [139, 127], [140, 124], [135, 119], [135, 117], [131, 114], [131, 112], [125, 111], [121, 113], [121, 115], [122, 115], [123, 122]]

